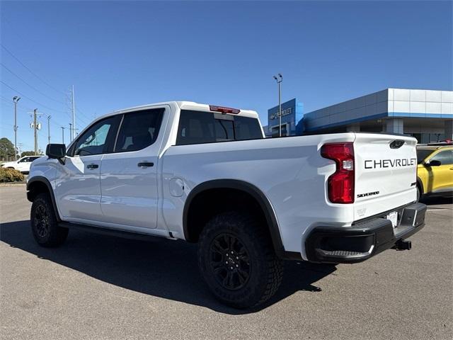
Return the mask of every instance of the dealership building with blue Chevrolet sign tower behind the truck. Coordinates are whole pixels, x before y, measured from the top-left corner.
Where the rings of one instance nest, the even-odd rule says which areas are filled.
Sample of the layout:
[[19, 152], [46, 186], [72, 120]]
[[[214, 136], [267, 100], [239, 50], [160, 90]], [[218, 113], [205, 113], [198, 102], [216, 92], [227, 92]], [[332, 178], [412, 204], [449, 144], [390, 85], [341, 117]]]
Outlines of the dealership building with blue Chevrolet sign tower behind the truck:
[[[282, 135], [389, 132], [420, 143], [453, 139], [453, 91], [385, 89], [303, 113], [296, 98], [282, 103]], [[278, 106], [268, 110], [268, 137], [278, 136]]]

